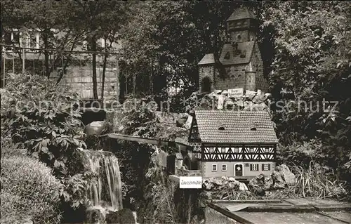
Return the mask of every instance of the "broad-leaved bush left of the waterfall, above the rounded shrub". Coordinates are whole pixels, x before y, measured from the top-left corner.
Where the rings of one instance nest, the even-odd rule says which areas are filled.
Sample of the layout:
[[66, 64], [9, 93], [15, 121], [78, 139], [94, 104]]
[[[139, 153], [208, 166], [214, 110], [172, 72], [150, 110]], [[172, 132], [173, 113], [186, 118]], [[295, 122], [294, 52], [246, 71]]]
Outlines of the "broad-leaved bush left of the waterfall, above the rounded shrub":
[[73, 172], [67, 166], [74, 163], [74, 150], [86, 147], [80, 140], [81, 114], [74, 110], [79, 103], [77, 93], [44, 77], [13, 74], [1, 96], [1, 135], [22, 143], [22, 148], [53, 167], [57, 175]]

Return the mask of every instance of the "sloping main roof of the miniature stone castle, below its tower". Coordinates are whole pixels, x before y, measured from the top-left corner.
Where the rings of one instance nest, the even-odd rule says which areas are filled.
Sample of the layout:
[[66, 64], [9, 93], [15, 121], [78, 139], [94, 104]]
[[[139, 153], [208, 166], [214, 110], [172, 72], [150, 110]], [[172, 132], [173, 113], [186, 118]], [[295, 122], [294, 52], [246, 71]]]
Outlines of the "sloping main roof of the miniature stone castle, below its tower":
[[[232, 44], [225, 44], [220, 53], [220, 62], [223, 65], [237, 65], [246, 64], [250, 62], [255, 41], [239, 42], [237, 44], [237, 48], [239, 51], [246, 51], [245, 58], [241, 58], [240, 54], [234, 56]], [[227, 52], [230, 53], [230, 58], [225, 57]]]

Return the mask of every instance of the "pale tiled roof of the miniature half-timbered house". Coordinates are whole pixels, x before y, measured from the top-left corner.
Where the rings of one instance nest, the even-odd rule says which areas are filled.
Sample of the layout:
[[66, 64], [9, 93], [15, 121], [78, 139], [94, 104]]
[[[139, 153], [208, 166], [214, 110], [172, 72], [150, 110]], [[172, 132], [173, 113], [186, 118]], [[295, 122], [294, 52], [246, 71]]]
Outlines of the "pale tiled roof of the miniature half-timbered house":
[[267, 111], [195, 110], [195, 119], [202, 143], [278, 143]]

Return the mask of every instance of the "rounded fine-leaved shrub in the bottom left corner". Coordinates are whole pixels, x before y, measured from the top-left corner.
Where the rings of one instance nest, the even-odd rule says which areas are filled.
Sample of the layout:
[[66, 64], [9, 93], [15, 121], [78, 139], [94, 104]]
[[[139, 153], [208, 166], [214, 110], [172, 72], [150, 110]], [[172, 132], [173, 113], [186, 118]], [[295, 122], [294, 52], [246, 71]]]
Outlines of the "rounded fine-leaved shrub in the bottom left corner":
[[52, 170], [30, 157], [1, 158], [1, 223], [60, 223], [59, 193]]

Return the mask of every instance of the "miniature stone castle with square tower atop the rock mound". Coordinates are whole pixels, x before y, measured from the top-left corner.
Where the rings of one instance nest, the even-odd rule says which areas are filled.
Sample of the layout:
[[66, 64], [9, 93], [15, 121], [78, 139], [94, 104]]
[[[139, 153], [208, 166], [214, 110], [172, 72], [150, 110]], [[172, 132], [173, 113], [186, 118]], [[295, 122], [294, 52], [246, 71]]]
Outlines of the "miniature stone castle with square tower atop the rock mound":
[[248, 8], [238, 8], [227, 19], [229, 38], [220, 51], [204, 55], [199, 65], [199, 91], [208, 92], [242, 88], [245, 91], [266, 92], [263, 62], [256, 41], [258, 20]]

